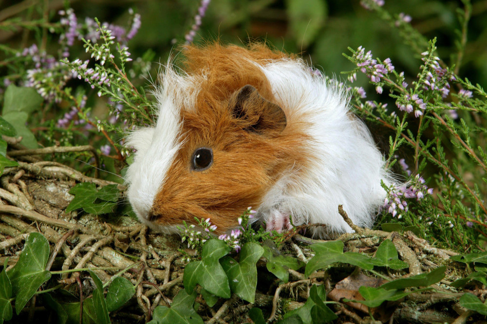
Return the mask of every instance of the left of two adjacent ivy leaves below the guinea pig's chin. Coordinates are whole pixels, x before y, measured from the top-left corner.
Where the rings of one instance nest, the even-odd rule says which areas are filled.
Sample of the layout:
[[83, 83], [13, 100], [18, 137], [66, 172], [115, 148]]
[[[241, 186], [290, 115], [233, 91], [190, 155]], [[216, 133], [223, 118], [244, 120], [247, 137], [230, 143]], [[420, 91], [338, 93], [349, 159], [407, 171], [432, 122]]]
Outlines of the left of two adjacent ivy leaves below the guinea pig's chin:
[[186, 292], [193, 291], [196, 284], [205, 288], [208, 292], [230, 298], [230, 286], [225, 271], [218, 262], [230, 252], [230, 248], [222, 240], [211, 239], [203, 245], [201, 261], [189, 263], [183, 274], [183, 283]]

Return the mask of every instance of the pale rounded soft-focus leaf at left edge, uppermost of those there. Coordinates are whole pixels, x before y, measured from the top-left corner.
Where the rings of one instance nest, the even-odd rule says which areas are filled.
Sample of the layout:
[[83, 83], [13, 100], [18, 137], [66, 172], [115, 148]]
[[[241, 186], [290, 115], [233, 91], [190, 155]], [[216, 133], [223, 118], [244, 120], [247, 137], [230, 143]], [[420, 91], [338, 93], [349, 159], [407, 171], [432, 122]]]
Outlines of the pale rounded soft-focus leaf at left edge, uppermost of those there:
[[10, 112], [31, 113], [44, 101], [34, 88], [17, 87], [11, 84], [5, 90], [2, 115]]

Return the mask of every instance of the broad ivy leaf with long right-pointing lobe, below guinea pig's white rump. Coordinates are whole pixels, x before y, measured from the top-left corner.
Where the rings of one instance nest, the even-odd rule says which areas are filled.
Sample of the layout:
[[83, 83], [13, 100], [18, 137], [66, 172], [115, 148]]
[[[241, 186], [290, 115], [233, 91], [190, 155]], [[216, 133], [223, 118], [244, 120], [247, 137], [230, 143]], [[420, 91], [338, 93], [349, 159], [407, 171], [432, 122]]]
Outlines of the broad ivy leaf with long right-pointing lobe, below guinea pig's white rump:
[[370, 257], [357, 252], [343, 253], [343, 246], [342, 241], [328, 241], [311, 245], [315, 256], [306, 264], [304, 275], [308, 277], [313, 271], [324, 269], [335, 262], [348, 263], [364, 270], [374, 268]]

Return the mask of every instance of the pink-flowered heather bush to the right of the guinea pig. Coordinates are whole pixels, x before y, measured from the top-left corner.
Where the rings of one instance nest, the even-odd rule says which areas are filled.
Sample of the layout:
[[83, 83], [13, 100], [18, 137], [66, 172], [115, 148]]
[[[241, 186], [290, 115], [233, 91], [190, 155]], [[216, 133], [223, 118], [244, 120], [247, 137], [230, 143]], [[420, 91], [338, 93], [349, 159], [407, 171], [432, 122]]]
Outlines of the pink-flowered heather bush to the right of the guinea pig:
[[[376, 1], [364, 2], [370, 4], [381, 18], [395, 21], [399, 30], [411, 27], [412, 18], [406, 14], [401, 13], [393, 19], [394, 16]], [[413, 50], [424, 46], [421, 38], [409, 38], [415, 43]], [[486, 191], [487, 182], [484, 148], [487, 129], [482, 124], [487, 113], [487, 96], [480, 85], [459, 77], [454, 73], [458, 69], [454, 70], [441, 60], [437, 54], [436, 39], [425, 44], [427, 46], [417, 53], [421, 61], [418, 60], [420, 64], [416, 75], [396, 71], [389, 58], [376, 58], [372, 51], [362, 46], [350, 49], [352, 54], [345, 56], [355, 68], [347, 72], [348, 81], [355, 82], [357, 74], [363, 73], [375, 93], [368, 95], [361, 87], [349, 89], [359, 115], [394, 133], [389, 140], [386, 166], [393, 167], [399, 160], [399, 167], [409, 177], [404, 180], [407, 185], [384, 187], [387, 198], [383, 214], [420, 227], [424, 226], [421, 219], [434, 218], [432, 226], [423, 228], [425, 233], [431, 237], [449, 237], [446, 239], [448, 242], [456, 240], [466, 244], [463, 231], [472, 228], [484, 235], [487, 233], [486, 200], [482, 194]], [[392, 108], [388, 108], [387, 103], [393, 103], [389, 106]], [[475, 120], [472, 120], [471, 113], [476, 114]], [[457, 149], [455, 156], [444, 148], [450, 143]], [[404, 152], [410, 152], [411, 157], [405, 156]], [[405, 162], [406, 157], [413, 161], [411, 169]], [[466, 180], [472, 171], [480, 177]], [[442, 174], [441, 177], [433, 177], [435, 184], [429, 184], [435, 187], [434, 194], [419, 176], [424, 172]], [[418, 215], [434, 217], [418, 218]], [[458, 226], [462, 225], [460, 230]]]

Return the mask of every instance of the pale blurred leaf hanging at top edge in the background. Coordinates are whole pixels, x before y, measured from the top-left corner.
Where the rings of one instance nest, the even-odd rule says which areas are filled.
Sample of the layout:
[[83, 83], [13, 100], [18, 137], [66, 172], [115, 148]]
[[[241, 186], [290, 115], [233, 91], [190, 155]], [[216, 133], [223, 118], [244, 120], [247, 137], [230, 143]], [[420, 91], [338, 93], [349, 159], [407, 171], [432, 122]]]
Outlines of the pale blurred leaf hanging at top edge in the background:
[[308, 46], [323, 27], [327, 8], [321, 0], [287, 0], [289, 29], [300, 46]]

